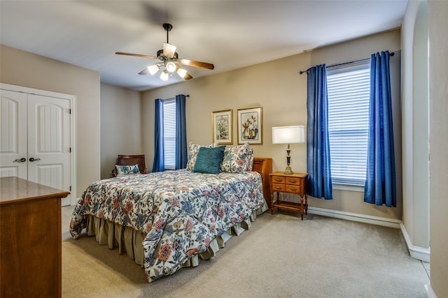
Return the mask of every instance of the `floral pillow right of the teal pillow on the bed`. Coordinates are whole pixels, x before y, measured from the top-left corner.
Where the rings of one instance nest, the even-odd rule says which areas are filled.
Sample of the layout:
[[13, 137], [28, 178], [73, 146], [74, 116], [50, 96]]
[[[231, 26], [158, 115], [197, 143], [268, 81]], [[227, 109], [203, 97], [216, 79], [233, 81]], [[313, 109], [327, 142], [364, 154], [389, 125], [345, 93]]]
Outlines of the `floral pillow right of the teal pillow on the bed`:
[[[249, 143], [224, 150], [221, 172], [244, 173], [248, 168]], [[252, 162], [253, 163], [253, 162]]]

